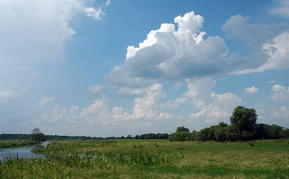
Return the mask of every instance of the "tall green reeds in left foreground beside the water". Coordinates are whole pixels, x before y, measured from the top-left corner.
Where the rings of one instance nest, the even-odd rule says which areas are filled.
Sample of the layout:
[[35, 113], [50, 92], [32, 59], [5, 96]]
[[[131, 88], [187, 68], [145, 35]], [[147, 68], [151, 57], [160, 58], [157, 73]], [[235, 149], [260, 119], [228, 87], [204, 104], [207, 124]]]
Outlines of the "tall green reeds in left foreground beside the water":
[[0, 179], [68, 179], [74, 169], [91, 169], [117, 174], [138, 166], [164, 166], [171, 159], [183, 157], [168, 151], [109, 152], [91, 154], [46, 154], [32, 159], [4, 156], [0, 162]]

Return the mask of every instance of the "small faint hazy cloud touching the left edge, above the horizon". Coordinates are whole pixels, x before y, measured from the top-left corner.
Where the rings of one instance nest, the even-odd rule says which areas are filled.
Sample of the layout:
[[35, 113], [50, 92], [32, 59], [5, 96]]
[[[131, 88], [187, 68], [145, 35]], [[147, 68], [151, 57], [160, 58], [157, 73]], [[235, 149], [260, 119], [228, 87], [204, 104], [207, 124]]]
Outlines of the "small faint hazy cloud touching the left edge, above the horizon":
[[14, 99], [19, 99], [24, 96], [29, 90], [28, 87], [21, 87], [17, 84], [11, 84], [6, 90], [0, 90], [0, 102], [7, 102]]

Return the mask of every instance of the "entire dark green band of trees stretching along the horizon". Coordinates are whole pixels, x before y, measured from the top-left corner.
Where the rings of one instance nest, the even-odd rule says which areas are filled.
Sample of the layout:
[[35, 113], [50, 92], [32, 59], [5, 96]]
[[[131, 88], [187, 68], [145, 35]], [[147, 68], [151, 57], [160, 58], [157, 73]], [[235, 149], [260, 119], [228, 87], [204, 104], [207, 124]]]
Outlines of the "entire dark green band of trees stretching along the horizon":
[[[200, 131], [190, 130], [184, 126], [178, 127], [176, 132], [149, 133], [128, 135], [127, 137], [86, 137], [86, 136], [60, 136], [41, 135], [39, 140], [49, 139], [82, 139], [82, 140], [111, 140], [111, 139], [168, 139], [169, 141], [250, 141], [258, 139], [289, 139], [289, 129], [276, 124], [257, 123], [257, 112], [255, 109], [237, 106], [230, 117], [231, 124], [219, 122], [201, 129]], [[39, 128], [37, 128], [39, 130]], [[40, 130], [39, 130], [40, 132]], [[0, 134], [0, 140], [8, 139], [31, 139], [31, 134]]]

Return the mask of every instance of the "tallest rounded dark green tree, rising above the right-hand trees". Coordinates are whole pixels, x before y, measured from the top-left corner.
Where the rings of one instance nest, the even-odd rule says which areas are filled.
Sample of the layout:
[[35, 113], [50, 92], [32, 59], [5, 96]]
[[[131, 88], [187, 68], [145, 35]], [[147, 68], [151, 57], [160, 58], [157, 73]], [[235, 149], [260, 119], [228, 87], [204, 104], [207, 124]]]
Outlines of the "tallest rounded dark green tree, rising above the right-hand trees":
[[234, 132], [243, 140], [254, 139], [257, 134], [257, 116], [255, 109], [237, 106], [230, 117]]

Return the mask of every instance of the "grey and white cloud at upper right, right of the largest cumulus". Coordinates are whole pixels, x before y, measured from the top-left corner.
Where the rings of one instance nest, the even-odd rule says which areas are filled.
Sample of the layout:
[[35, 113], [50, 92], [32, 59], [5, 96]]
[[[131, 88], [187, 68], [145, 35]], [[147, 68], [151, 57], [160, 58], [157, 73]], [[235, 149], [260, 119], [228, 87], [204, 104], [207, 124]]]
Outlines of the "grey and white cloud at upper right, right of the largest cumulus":
[[[271, 69], [289, 68], [286, 57], [289, 55], [289, 24], [253, 24], [249, 23], [249, 17], [242, 15], [232, 16], [222, 26], [229, 38], [243, 40], [251, 48], [251, 56], [248, 56], [245, 65], [242, 58], [235, 65], [239, 67], [235, 74], [248, 74], [252, 72], [263, 72]], [[234, 55], [234, 54], [232, 54]], [[242, 62], [242, 63], [241, 63]], [[242, 69], [243, 67], [243, 69]]]

